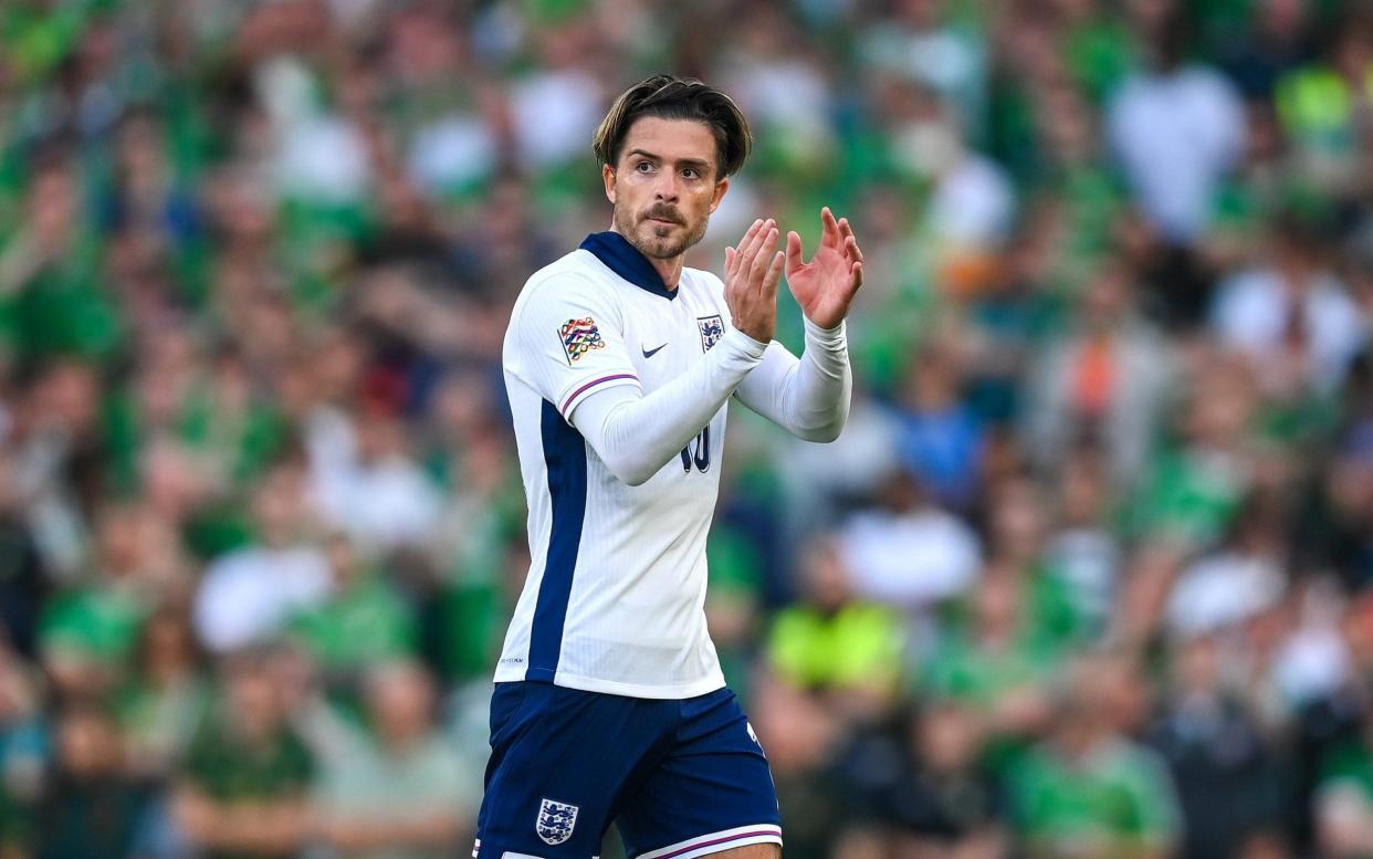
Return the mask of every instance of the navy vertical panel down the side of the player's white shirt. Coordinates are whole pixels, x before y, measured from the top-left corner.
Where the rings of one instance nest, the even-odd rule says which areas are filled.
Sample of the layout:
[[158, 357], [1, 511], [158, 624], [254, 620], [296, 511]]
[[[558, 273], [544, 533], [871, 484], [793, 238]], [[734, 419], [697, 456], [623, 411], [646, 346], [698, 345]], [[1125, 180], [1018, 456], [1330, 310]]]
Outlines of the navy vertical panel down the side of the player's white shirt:
[[563, 624], [567, 620], [567, 602], [573, 596], [573, 571], [577, 568], [586, 519], [586, 439], [546, 399], [540, 414], [540, 432], [553, 521], [544, 578], [534, 604], [524, 679], [551, 683], [563, 648]]

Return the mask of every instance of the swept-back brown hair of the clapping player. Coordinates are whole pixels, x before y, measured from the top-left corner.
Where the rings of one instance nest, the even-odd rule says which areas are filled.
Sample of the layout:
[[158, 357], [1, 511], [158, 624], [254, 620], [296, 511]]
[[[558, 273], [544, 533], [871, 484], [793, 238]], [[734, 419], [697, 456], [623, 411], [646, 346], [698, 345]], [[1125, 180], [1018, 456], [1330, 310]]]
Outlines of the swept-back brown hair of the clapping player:
[[710, 126], [715, 134], [717, 178], [737, 173], [754, 145], [748, 121], [733, 99], [696, 78], [655, 74], [626, 89], [601, 119], [592, 150], [603, 165], [615, 166], [629, 128], [643, 117], [693, 119]]

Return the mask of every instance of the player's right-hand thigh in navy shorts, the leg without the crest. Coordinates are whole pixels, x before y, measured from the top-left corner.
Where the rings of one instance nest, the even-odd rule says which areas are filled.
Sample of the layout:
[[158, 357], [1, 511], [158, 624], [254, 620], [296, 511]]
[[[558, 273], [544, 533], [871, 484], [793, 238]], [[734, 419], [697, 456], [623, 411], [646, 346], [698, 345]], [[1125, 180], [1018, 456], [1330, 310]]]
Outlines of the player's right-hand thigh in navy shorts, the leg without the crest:
[[676, 742], [625, 797], [618, 826], [638, 859], [693, 859], [781, 844], [777, 790], [735, 693], [681, 703]]

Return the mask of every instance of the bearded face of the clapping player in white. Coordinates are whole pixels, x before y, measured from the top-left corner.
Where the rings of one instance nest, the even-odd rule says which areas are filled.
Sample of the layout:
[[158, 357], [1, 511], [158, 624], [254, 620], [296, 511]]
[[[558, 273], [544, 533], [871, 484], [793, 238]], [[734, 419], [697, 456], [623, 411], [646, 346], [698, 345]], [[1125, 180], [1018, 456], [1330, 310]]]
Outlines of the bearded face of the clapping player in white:
[[615, 232], [651, 259], [684, 254], [706, 235], [729, 188], [715, 159], [715, 136], [706, 123], [636, 119], [615, 166], [603, 170]]

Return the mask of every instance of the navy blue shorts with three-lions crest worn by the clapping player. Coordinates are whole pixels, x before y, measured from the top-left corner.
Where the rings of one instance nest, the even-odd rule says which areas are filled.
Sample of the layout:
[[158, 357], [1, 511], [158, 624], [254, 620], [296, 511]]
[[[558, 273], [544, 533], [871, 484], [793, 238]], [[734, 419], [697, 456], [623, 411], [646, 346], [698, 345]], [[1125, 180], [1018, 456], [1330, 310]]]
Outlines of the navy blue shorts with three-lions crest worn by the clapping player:
[[728, 689], [629, 698], [497, 683], [479, 859], [590, 859], [615, 822], [630, 859], [781, 844], [768, 759]]

